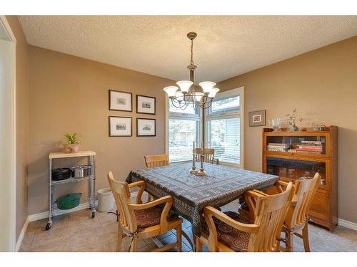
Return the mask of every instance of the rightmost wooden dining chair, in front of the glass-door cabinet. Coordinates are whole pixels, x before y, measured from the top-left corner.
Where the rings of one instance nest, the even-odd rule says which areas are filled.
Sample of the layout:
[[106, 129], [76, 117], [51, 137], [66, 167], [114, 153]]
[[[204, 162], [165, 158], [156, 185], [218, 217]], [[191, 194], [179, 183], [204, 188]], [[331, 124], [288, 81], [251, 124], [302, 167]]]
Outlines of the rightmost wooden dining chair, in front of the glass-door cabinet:
[[[293, 251], [293, 236], [303, 239], [303, 248], [306, 252], [310, 251], [308, 242], [308, 211], [315, 197], [321, 176], [316, 172], [312, 179], [297, 179], [294, 184], [294, 195], [291, 206], [286, 214], [283, 226], [285, 233], [285, 250]], [[282, 191], [287, 183], [279, 181], [278, 191]], [[299, 232], [301, 231], [301, 234]]]

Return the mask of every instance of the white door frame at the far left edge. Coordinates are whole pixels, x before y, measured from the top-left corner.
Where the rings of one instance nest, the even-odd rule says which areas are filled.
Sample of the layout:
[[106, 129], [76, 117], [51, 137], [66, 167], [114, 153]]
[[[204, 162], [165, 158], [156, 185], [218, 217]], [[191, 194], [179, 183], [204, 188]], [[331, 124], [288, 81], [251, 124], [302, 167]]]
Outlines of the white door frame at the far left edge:
[[7, 155], [11, 157], [11, 251], [16, 251], [16, 37], [10, 27], [9, 22], [6, 19], [6, 16], [0, 16], [0, 23], [5, 28], [7, 36], [9, 37], [12, 43], [12, 110], [11, 110], [11, 151], [6, 152]]

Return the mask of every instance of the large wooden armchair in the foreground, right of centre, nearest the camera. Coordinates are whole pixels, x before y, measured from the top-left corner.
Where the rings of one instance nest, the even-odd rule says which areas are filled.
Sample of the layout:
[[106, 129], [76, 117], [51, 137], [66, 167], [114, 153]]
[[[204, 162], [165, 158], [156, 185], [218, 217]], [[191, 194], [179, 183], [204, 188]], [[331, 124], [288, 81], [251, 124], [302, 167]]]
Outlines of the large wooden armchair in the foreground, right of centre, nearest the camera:
[[233, 211], [223, 213], [206, 206], [203, 209], [206, 225], [203, 224], [201, 236], [195, 236], [196, 251], [202, 251], [202, 244], [209, 251], [278, 251], [278, 237], [293, 197], [292, 189], [290, 182], [285, 191], [271, 196], [258, 190], [246, 192], [254, 221]]

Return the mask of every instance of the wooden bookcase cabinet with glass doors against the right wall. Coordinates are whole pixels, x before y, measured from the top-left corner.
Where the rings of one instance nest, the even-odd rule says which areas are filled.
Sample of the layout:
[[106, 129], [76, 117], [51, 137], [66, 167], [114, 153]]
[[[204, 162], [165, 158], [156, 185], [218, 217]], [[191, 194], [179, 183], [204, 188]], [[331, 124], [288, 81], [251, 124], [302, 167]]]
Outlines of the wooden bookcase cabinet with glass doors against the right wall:
[[[301, 151], [301, 147], [308, 152]], [[281, 180], [288, 182], [300, 177], [313, 177], [318, 172], [321, 184], [313, 199], [309, 217], [314, 223], [333, 231], [338, 224], [337, 126], [326, 127], [324, 131], [298, 132], [264, 128], [263, 172], [278, 175]]]

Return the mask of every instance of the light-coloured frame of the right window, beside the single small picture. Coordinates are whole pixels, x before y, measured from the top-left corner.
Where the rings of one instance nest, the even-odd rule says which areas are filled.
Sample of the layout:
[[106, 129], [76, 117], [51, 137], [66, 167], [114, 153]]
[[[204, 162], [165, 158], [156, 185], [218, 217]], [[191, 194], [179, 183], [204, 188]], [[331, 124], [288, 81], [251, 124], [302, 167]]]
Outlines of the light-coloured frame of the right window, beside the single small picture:
[[239, 110], [232, 109], [228, 111], [222, 111], [222, 112], [212, 112], [211, 108], [208, 110], [205, 110], [205, 116], [204, 116], [204, 125], [205, 125], [205, 143], [208, 144], [208, 121], [210, 120], [222, 120], [222, 119], [229, 119], [233, 117], [239, 117], [240, 118], [240, 149], [239, 149], [239, 164], [231, 163], [231, 162], [219, 162], [222, 165], [227, 165], [231, 167], [239, 167], [243, 169], [244, 167], [244, 87], [240, 88], [235, 88], [231, 90], [224, 91], [222, 93], [218, 93], [216, 95], [215, 100], [221, 100], [221, 99], [226, 99], [230, 98], [233, 96], [239, 95]]

